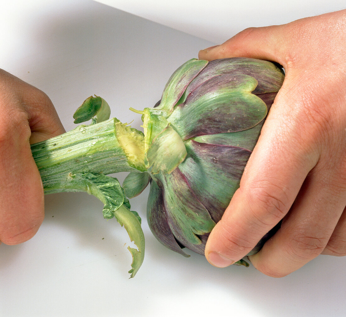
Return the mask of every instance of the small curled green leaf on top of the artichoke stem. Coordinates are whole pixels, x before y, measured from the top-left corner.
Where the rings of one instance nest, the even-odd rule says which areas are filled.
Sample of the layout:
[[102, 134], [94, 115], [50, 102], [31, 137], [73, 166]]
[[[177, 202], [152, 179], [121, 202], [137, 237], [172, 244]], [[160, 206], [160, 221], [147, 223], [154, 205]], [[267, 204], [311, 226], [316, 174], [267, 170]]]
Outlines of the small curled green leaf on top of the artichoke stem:
[[73, 114], [74, 123], [82, 123], [94, 119], [95, 123], [110, 118], [110, 107], [106, 100], [95, 95], [86, 98], [82, 105]]

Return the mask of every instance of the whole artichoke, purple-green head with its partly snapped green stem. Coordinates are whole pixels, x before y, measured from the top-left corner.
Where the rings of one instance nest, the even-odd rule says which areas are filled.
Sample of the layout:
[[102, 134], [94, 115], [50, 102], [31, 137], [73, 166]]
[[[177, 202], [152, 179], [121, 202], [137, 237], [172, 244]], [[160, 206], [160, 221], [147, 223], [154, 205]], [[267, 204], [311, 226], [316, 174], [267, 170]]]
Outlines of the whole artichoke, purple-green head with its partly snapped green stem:
[[[31, 145], [45, 193], [84, 191], [99, 198], [103, 217], [116, 218], [137, 246], [129, 247], [131, 277], [145, 243], [127, 197], [149, 183], [147, 220], [154, 236], [184, 256], [184, 247], [203, 254], [283, 79], [282, 69], [268, 61], [191, 59], [173, 73], [153, 108], [134, 110], [142, 114], [143, 132], [109, 119], [108, 104], [89, 97], [74, 114], [75, 123], [91, 119], [89, 125]], [[130, 172], [122, 187], [108, 175], [121, 171]]]

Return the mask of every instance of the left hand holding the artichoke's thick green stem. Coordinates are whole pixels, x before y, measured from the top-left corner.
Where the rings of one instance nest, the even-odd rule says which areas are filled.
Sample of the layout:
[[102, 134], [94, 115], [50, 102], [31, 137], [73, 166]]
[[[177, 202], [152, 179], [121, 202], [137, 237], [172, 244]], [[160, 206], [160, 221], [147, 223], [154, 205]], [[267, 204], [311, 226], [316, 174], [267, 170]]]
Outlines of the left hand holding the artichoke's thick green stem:
[[44, 218], [41, 177], [30, 143], [64, 133], [51, 100], [0, 69], [0, 243], [32, 238]]

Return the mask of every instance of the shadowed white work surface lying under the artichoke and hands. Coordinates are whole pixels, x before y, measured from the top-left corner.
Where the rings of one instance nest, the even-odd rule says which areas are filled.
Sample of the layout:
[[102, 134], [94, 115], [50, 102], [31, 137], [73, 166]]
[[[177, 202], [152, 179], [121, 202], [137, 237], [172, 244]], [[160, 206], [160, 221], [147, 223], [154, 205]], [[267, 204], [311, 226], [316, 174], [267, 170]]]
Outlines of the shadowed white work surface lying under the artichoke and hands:
[[[128, 108], [154, 105], [171, 73], [212, 44], [86, 0], [12, 1], [1, 10], [0, 67], [46, 92], [66, 129], [92, 94], [139, 127]], [[131, 200], [146, 236], [134, 279], [127, 234], [102, 218], [97, 199], [46, 196], [36, 236], [0, 245], [0, 316], [346, 316], [346, 257], [320, 256], [281, 279], [252, 266], [217, 269], [155, 240], [146, 196]]]

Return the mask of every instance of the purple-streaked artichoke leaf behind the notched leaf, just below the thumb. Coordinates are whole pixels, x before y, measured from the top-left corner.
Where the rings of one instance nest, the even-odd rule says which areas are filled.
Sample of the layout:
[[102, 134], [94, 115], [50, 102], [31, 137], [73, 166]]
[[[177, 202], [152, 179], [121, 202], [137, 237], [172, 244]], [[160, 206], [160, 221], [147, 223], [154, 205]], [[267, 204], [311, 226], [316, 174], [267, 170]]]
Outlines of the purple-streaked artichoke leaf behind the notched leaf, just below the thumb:
[[258, 81], [254, 94], [277, 93], [284, 80], [282, 69], [268, 61], [247, 57], [224, 58], [210, 61], [198, 77], [191, 82], [186, 92], [191, 93], [209, 78], [221, 74], [233, 76], [237, 73], [249, 75]]

